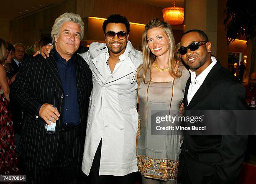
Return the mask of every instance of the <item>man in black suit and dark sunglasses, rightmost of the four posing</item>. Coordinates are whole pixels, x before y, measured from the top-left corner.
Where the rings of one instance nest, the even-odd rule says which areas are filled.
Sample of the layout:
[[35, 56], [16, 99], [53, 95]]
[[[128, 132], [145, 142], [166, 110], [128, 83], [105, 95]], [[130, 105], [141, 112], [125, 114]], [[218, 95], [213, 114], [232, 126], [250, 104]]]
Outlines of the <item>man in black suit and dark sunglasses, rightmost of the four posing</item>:
[[[184, 95], [185, 110], [246, 110], [244, 87], [211, 57], [210, 52], [211, 42], [203, 31], [191, 30], [182, 36], [179, 53], [191, 74]], [[218, 120], [212, 127], [222, 126], [221, 118]], [[229, 123], [231, 127], [236, 126], [235, 121]], [[246, 144], [247, 136], [189, 135], [184, 131], [178, 181], [182, 184], [235, 184]]]

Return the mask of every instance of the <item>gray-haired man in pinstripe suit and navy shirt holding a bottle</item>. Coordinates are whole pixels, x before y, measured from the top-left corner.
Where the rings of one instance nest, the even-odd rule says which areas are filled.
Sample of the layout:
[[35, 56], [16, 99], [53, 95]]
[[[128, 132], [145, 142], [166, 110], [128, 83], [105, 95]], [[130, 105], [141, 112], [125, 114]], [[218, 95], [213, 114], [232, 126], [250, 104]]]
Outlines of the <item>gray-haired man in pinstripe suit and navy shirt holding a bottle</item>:
[[28, 183], [77, 182], [92, 90], [89, 66], [76, 54], [83, 36], [79, 15], [59, 16], [49, 58], [26, 59], [11, 87], [10, 98], [25, 111], [18, 155]]

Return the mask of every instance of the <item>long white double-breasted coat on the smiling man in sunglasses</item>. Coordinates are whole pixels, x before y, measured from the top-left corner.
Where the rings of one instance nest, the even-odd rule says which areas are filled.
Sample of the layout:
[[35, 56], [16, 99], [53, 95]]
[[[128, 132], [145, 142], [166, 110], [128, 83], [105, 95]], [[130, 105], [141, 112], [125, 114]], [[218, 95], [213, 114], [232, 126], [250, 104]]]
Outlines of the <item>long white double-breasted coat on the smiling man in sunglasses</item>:
[[124, 176], [136, 172], [136, 70], [142, 63], [141, 52], [128, 41], [113, 74], [106, 64], [109, 57], [106, 44], [94, 42], [81, 56], [89, 64], [93, 80], [82, 171], [89, 175], [102, 139], [100, 175]]

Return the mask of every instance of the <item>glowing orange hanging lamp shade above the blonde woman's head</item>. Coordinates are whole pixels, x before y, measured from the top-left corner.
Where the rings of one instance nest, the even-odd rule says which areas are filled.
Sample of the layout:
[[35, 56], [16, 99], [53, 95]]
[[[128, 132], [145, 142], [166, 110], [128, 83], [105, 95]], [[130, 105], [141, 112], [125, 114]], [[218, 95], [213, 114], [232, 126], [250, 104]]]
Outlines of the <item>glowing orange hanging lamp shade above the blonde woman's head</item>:
[[168, 7], [163, 9], [164, 21], [170, 25], [180, 25], [184, 21], [184, 8]]

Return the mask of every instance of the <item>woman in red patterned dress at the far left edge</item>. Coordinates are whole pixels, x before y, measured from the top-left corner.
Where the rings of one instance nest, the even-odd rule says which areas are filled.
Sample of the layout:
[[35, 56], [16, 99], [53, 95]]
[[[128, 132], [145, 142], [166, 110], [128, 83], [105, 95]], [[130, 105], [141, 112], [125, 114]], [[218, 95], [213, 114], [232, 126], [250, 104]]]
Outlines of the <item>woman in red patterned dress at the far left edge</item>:
[[11, 80], [5, 72], [5, 60], [8, 58], [6, 42], [0, 38], [0, 174], [18, 174], [17, 154], [13, 133], [13, 121], [9, 111], [9, 85]]

